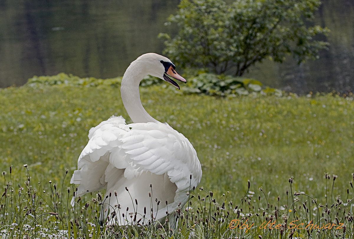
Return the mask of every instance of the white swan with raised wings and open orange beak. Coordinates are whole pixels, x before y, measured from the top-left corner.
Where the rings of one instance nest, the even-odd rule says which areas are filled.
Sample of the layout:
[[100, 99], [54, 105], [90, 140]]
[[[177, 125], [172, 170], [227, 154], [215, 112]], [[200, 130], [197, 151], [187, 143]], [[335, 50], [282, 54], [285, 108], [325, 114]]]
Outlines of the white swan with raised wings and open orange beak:
[[169, 76], [186, 82], [164, 56], [147, 53], [133, 61], [124, 73], [120, 90], [133, 124], [127, 125], [122, 116], [112, 116], [91, 128], [78, 170], [70, 181], [80, 184], [75, 198], [106, 189], [102, 197], [105, 213], [101, 218], [109, 216], [109, 222], [118, 225], [140, 219], [140, 224], [148, 220], [164, 222], [166, 211], [172, 215], [178, 206], [183, 206], [188, 200], [186, 192], [198, 185], [202, 175], [188, 139], [167, 123], [155, 120], [143, 108], [139, 83], [145, 75], [156, 76], [178, 89]]

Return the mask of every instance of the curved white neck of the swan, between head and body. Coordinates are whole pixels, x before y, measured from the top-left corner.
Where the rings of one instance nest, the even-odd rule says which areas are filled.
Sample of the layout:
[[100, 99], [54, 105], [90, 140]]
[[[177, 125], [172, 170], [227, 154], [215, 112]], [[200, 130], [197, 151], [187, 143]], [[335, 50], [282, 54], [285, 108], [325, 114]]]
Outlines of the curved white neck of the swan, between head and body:
[[139, 94], [139, 84], [146, 73], [134, 61], [125, 71], [120, 87], [123, 105], [133, 123], [159, 122], [146, 112]]

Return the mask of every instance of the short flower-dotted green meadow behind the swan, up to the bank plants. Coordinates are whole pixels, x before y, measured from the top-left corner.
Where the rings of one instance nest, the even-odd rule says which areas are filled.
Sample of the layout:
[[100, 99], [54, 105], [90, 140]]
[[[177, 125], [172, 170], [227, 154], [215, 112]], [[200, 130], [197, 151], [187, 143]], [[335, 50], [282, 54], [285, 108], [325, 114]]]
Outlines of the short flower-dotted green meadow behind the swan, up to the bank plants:
[[[264, 192], [277, 203], [278, 196], [286, 198], [293, 177], [292, 192], [326, 205], [325, 172], [338, 175], [331, 200], [350, 188], [352, 97], [258, 94], [228, 99], [150, 86], [141, 88], [141, 98], [147, 112], [190, 140], [202, 164], [199, 186], [216, 195], [229, 192], [228, 200], [239, 202], [250, 180], [250, 199]], [[107, 85], [10, 87], [0, 90], [0, 102], [0, 171], [8, 173], [12, 165], [12, 180], [23, 183], [23, 164], [28, 164], [31, 182], [42, 182], [47, 190], [49, 180], [61, 183], [66, 168], [71, 176], [91, 127], [113, 114], [130, 123], [119, 88]]]

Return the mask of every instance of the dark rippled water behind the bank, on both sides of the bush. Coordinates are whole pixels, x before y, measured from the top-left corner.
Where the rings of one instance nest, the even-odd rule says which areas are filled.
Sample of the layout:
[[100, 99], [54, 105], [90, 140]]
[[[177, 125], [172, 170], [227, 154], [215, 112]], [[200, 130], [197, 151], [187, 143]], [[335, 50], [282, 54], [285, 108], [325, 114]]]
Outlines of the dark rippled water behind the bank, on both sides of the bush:
[[[136, 57], [161, 53], [160, 32], [178, 0], [0, 0], [0, 87], [33, 75], [122, 75]], [[248, 74], [297, 93], [354, 89], [354, 0], [324, 0], [316, 23], [331, 29], [329, 51], [297, 66], [265, 61]], [[168, 57], [168, 56], [167, 56]]]

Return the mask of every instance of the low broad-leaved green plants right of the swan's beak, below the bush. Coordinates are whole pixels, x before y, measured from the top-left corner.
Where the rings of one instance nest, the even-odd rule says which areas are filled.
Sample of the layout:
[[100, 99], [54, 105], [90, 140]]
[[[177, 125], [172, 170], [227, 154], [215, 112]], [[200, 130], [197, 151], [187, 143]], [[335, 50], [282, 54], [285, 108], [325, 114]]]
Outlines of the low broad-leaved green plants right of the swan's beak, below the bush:
[[267, 88], [263, 91], [262, 83], [258, 80], [211, 73], [202, 73], [192, 79], [188, 79], [187, 87], [182, 87], [182, 90], [188, 93], [203, 93], [205, 95], [228, 97], [248, 95], [249, 93], [282, 95], [282, 92], [278, 89], [270, 91]]

